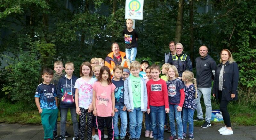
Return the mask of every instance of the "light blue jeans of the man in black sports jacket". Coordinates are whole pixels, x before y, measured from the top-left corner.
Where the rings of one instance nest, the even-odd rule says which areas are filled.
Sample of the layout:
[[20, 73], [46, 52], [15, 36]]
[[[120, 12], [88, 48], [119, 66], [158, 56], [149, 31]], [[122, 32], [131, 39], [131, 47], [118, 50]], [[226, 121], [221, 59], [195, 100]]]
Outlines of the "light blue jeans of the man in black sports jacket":
[[199, 119], [204, 119], [203, 111], [200, 103], [200, 98], [203, 95], [204, 97], [204, 105], [205, 105], [205, 121], [211, 122], [212, 118], [212, 103], [211, 103], [211, 92], [212, 88], [197, 88], [197, 98], [195, 99], [195, 103], [197, 105], [196, 113]]

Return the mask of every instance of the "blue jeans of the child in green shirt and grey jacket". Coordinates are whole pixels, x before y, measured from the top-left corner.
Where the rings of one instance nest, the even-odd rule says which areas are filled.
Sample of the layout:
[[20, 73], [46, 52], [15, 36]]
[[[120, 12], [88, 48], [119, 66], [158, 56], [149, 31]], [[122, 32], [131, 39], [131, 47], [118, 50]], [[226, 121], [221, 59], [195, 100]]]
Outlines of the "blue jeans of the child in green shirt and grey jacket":
[[133, 112], [129, 112], [129, 118], [131, 138], [140, 138], [143, 112], [141, 112], [140, 108], [134, 108]]

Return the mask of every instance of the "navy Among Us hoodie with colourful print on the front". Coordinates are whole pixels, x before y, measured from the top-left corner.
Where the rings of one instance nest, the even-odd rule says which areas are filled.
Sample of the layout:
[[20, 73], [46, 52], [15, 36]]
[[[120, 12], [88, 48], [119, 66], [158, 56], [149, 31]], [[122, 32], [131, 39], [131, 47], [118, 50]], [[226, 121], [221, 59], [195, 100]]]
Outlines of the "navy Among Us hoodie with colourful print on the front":
[[75, 75], [72, 75], [71, 79], [68, 79], [67, 75], [60, 78], [57, 86], [57, 95], [60, 99], [60, 108], [76, 108], [76, 89], [74, 86], [77, 79], [78, 78]]

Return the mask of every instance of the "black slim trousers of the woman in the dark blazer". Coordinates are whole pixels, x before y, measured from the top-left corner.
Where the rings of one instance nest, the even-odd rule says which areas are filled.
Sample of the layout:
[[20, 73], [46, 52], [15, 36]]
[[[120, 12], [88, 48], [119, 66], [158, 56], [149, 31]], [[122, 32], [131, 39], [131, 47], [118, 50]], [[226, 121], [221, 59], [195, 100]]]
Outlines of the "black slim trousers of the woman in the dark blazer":
[[223, 121], [225, 125], [227, 125], [227, 127], [231, 127], [230, 116], [228, 113], [229, 101], [222, 100], [222, 91], [218, 91], [218, 95], [219, 95], [219, 102], [220, 102], [220, 111], [222, 113]]

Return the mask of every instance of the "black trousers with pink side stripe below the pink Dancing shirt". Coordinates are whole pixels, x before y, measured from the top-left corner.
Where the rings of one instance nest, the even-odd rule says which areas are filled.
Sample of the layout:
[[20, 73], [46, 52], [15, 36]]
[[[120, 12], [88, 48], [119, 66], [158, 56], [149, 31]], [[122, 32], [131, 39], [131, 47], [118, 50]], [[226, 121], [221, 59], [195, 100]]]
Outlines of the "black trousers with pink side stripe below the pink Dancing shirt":
[[113, 126], [112, 116], [110, 116], [110, 117], [97, 116], [96, 124], [98, 127], [99, 138], [100, 138], [100, 140], [104, 139], [104, 121], [106, 122], [106, 125], [107, 125], [108, 139], [112, 140], [112, 139], [114, 139], [114, 130], [113, 130], [114, 126]]

